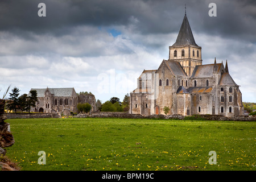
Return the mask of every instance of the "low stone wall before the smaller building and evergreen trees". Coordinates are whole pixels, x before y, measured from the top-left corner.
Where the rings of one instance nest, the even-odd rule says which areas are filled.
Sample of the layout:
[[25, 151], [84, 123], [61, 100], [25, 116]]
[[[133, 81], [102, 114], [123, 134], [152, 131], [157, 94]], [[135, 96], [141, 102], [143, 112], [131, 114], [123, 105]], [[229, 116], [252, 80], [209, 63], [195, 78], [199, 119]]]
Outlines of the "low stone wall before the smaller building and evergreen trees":
[[5, 114], [7, 119], [17, 119], [17, 118], [61, 118], [60, 113], [6, 113]]

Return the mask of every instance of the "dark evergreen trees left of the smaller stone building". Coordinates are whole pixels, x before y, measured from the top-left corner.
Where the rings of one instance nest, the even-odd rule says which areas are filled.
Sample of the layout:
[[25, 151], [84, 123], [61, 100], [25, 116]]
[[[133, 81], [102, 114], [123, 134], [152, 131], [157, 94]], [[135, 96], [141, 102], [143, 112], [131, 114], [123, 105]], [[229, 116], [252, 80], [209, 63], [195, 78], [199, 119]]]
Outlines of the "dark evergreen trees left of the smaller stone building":
[[36, 101], [38, 101], [38, 93], [36, 90], [30, 91], [30, 96], [23, 94], [19, 96], [20, 90], [14, 87], [10, 94], [9, 100], [6, 103], [6, 108], [8, 110], [13, 110], [15, 113], [18, 109], [22, 111], [28, 111], [30, 113], [31, 107], [35, 107]]

